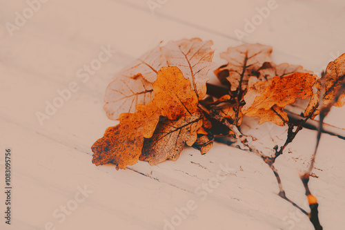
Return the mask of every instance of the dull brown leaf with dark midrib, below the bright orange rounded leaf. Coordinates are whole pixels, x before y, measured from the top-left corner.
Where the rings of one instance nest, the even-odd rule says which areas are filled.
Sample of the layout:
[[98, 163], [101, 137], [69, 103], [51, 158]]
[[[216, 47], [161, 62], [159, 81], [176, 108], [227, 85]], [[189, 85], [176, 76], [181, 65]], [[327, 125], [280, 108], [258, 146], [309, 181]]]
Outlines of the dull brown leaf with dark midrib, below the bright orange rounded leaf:
[[177, 120], [159, 122], [155, 133], [146, 139], [140, 160], [150, 165], [165, 160], [176, 161], [184, 145], [192, 146], [197, 140], [197, 130], [202, 126], [202, 115], [199, 112]]

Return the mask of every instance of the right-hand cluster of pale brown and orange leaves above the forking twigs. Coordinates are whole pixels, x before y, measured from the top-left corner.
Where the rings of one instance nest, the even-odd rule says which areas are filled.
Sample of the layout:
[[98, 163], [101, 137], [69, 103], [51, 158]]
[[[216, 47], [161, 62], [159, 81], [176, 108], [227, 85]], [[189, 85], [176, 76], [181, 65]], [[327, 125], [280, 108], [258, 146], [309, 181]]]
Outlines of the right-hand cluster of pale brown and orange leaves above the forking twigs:
[[284, 126], [288, 122], [284, 107], [297, 98], [313, 95], [313, 73], [302, 66], [276, 65], [271, 53], [270, 46], [260, 44], [230, 47], [221, 52], [228, 64], [217, 68], [215, 74], [230, 89], [230, 100], [221, 111], [237, 126], [243, 115], [260, 117], [259, 124], [273, 122]]

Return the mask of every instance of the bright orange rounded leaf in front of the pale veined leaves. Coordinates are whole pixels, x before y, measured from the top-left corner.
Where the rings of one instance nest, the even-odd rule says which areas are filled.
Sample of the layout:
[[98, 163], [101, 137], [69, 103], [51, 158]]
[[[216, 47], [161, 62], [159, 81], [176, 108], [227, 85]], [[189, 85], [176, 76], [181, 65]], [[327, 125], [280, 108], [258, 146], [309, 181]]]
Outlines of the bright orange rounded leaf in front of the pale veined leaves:
[[184, 78], [179, 68], [163, 67], [159, 70], [157, 80], [153, 84], [155, 105], [161, 115], [168, 119], [192, 115], [197, 111], [197, 95], [193, 92], [190, 82]]

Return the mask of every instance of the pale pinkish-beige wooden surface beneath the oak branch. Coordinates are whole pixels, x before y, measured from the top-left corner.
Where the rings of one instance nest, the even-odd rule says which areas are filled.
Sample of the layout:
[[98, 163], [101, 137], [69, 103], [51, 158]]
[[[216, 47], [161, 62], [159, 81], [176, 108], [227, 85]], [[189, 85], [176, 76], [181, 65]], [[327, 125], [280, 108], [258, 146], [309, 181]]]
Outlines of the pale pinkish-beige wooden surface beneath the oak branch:
[[[116, 124], [102, 107], [106, 86], [118, 70], [160, 41], [192, 37], [212, 39], [221, 65], [219, 52], [241, 44], [235, 30], [244, 30], [244, 19], [267, 4], [171, 0], [152, 14], [147, 1], [50, 0], [10, 36], [6, 23], [14, 23], [15, 12], [21, 14], [28, 3], [0, 1], [0, 161], [5, 149], [12, 148], [13, 183], [12, 224], [1, 217], [1, 229], [164, 229], [165, 220], [174, 218], [181, 220], [174, 229], [313, 229], [276, 195], [274, 175], [262, 160], [224, 144], [202, 156], [187, 148], [177, 162], [157, 166], [139, 162], [116, 171], [91, 163], [90, 146]], [[315, 73], [345, 52], [344, 1], [276, 4], [245, 42], [271, 45], [276, 63], [301, 64]], [[108, 46], [117, 52], [82, 82], [78, 70]], [[212, 73], [210, 77], [217, 83]], [[77, 82], [79, 90], [41, 125], [37, 112], [44, 113], [46, 102], [70, 82]], [[344, 109], [333, 109], [326, 122], [345, 128]], [[286, 128], [264, 124], [261, 131], [244, 130], [260, 137], [269, 151]], [[308, 165], [315, 136], [315, 131], [301, 131], [291, 153], [286, 151], [277, 162], [288, 195], [302, 206], [305, 196], [297, 173]], [[344, 140], [324, 135], [314, 171], [319, 178], [311, 179], [324, 229], [345, 224], [344, 148]], [[226, 165], [231, 170], [224, 170]], [[207, 197], [198, 195], [219, 170], [226, 180], [211, 185]], [[54, 213], [61, 213], [61, 205], [74, 204], [84, 186], [90, 191], [86, 199], [66, 220], [57, 218]], [[3, 213], [2, 192], [0, 198]], [[190, 200], [195, 209], [180, 215], [176, 209], [185, 210]]]

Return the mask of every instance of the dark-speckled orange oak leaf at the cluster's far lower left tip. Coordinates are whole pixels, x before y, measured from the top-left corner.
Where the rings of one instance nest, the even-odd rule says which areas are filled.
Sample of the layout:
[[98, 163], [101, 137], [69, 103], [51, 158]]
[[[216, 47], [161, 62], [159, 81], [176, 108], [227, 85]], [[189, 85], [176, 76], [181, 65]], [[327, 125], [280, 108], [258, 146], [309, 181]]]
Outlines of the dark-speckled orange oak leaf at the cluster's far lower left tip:
[[101, 139], [92, 145], [95, 154], [92, 163], [116, 164], [117, 169], [137, 163], [144, 144], [144, 137], [150, 138], [155, 131], [159, 108], [153, 102], [137, 105], [136, 113], [122, 113], [117, 126], [107, 128]]

